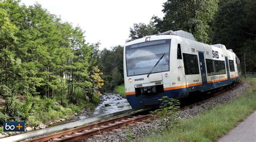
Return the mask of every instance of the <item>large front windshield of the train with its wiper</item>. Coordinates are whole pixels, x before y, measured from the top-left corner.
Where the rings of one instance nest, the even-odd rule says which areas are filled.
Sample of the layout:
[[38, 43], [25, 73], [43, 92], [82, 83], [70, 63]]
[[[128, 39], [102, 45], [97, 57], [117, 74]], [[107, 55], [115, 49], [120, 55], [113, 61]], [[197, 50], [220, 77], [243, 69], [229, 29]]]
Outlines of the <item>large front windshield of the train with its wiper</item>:
[[127, 76], [148, 74], [163, 56], [152, 73], [170, 70], [170, 39], [154, 40], [125, 47]]

